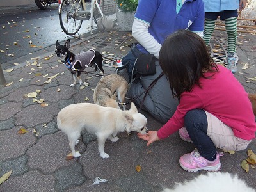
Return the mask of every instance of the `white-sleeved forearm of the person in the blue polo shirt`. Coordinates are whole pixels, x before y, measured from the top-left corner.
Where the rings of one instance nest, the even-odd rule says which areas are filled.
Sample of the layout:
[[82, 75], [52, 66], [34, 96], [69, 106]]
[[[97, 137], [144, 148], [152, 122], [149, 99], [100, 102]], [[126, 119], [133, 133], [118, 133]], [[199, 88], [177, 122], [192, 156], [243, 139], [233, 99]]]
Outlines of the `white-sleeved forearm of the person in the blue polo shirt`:
[[132, 26], [132, 36], [141, 44], [150, 54], [159, 57], [161, 44], [148, 32], [149, 24], [139, 19], [134, 19]]

